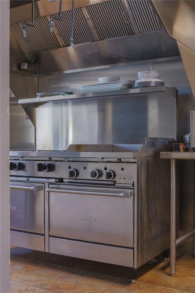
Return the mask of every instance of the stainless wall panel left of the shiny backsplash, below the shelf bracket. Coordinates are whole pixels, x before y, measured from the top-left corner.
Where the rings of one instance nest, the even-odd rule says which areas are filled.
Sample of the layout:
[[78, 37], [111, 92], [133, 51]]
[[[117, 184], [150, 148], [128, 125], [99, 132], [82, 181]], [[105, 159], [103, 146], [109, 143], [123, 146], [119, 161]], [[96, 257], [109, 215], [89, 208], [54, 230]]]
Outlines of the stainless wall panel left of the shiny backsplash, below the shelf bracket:
[[9, 107], [10, 150], [34, 150], [34, 125], [20, 105]]

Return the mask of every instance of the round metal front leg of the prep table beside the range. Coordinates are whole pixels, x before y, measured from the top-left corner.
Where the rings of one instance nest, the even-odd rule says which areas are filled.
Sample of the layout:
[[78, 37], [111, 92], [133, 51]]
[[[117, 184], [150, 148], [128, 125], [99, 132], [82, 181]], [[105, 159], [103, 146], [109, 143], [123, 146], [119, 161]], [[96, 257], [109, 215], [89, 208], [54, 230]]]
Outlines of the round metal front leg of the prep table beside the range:
[[171, 159], [171, 276], [176, 273], [176, 159]]

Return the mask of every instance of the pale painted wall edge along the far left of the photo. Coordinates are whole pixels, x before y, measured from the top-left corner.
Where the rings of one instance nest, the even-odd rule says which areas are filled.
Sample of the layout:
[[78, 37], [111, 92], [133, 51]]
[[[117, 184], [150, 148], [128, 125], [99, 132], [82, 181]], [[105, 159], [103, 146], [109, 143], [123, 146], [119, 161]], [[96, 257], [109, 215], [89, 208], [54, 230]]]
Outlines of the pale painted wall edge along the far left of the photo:
[[9, 1], [0, 0], [0, 293], [10, 293]]

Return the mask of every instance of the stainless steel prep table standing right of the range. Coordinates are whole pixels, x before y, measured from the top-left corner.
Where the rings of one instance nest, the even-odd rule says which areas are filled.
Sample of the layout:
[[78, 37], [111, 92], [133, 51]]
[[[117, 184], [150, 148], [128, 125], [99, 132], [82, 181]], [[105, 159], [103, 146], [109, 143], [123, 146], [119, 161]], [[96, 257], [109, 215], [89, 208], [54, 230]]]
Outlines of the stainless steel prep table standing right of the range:
[[[171, 243], [170, 243], [170, 270], [171, 276], [175, 277], [176, 273], [176, 246], [186, 239], [193, 236], [193, 255], [195, 257], [195, 190], [193, 200], [193, 230], [176, 238], [176, 163], [177, 160], [194, 160], [194, 176], [195, 176], [195, 152], [161, 152], [161, 159], [171, 160]], [[195, 186], [195, 178], [194, 186]]]

